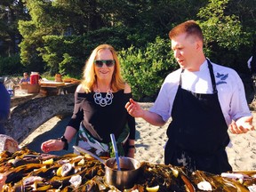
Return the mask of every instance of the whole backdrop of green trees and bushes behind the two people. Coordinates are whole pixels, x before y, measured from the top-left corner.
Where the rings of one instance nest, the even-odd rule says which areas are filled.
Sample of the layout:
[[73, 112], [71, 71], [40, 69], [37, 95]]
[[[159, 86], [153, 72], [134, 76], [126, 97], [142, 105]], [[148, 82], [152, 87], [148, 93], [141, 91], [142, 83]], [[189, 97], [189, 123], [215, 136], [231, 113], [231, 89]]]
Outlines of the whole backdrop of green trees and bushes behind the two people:
[[1, 0], [0, 55], [19, 54], [17, 70], [80, 77], [92, 50], [112, 44], [136, 98], [145, 100], [178, 67], [168, 37], [173, 26], [197, 20], [207, 57], [247, 73], [255, 15], [252, 0]]

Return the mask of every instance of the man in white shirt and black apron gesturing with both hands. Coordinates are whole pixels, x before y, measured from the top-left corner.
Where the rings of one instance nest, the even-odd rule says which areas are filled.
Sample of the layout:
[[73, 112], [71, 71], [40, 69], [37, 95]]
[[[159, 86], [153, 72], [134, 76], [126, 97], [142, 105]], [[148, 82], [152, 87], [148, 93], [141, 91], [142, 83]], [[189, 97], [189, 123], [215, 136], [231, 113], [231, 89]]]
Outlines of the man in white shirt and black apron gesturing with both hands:
[[172, 28], [169, 36], [180, 69], [165, 78], [149, 111], [132, 99], [125, 108], [157, 126], [172, 116], [165, 164], [186, 166], [191, 172], [232, 171], [225, 151], [228, 125], [237, 134], [254, 129], [244, 85], [235, 70], [205, 58], [202, 30], [194, 20]]

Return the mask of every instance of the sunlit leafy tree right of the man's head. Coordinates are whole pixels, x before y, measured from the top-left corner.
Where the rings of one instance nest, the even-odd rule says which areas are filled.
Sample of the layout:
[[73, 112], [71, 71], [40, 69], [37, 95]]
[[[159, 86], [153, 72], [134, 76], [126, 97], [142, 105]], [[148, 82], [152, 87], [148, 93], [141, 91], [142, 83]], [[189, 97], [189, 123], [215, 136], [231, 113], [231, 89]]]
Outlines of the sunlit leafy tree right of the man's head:
[[238, 63], [246, 61], [241, 60], [244, 58], [241, 50], [249, 46], [252, 34], [243, 31], [243, 26], [236, 15], [227, 14], [227, 7], [228, 0], [210, 0], [209, 4], [197, 13], [200, 18], [198, 23], [204, 33], [205, 52], [211, 60], [237, 68]]

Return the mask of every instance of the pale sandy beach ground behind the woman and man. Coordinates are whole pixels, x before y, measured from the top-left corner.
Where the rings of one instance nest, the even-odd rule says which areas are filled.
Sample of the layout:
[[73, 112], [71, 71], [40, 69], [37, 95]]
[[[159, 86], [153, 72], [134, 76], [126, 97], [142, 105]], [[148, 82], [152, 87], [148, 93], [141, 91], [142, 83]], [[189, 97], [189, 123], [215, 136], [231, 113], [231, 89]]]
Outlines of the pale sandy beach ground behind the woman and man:
[[[140, 105], [142, 108], [148, 109], [152, 103], [140, 103]], [[252, 111], [252, 115], [253, 124], [256, 127], [256, 112]], [[60, 138], [65, 131], [68, 120], [69, 117], [64, 119], [57, 116], [53, 117], [38, 127], [35, 132], [32, 132], [26, 140], [23, 140], [20, 147], [27, 146], [29, 149], [42, 153], [40, 150], [41, 143], [44, 140]], [[150, 164], [164, 164], [164, 144], [167, 141], [168, 123], [159, 127], [148, 124], [141, 118], [136, 118], [135, 158], [137, 160]], [[227, 148], [227, 153], [233, 171], [256, 171], [256, 131], [244, 134], [228, 133], [233, 147]], [[68, 151], [62, 150], [51, 154], [61, 156], [72, 153], [72, 145], [75, 145], [75, 140], [69, 144]]]

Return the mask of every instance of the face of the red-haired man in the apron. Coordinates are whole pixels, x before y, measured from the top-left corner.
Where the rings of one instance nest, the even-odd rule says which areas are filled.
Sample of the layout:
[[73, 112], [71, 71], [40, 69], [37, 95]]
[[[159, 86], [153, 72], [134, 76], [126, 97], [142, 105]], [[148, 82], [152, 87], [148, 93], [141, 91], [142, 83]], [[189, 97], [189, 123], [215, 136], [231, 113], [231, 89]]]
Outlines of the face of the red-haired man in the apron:
[[195, 68], [195, 58], [198, 51], [196, 38], [180, 34], [172, 38], [172, 51], [180, 68], [193, 70]]

